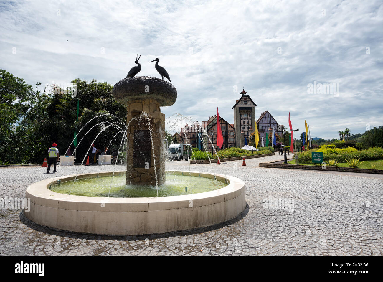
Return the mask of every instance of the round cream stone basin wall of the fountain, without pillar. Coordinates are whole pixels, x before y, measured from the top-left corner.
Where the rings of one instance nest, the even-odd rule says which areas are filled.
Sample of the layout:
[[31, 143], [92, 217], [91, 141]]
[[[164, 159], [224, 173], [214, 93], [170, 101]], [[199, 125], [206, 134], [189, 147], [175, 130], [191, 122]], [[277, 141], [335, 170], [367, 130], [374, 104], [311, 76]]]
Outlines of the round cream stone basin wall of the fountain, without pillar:
[[[100, 177], [113, 172], [100, 173]], [[97, 177], [98, 173], [79, 174], [77, 179]], [[115, 175], [124, 175], [117, 171]], [[172, 171], [187, 175], [188, 171]], [[191, 172], [191, 176], [214, 179], [210, 173]], [[66, 195], [49, 190], [46, 179], [30, 185], [25, 197], [31, 208], [25, 216], [43, 226], [80, 233], [107, 235], [139, 235], [188, 230], [221, 223], [234, 218], [246, 206], [245, 184], [241, 179], [226, 175], [228, 184], [209, 192], [166, 197], [108, 198]], [[226, 182], [224, 175], [216, 174]], [[61, 181], [74, 180], [75, 175]]]

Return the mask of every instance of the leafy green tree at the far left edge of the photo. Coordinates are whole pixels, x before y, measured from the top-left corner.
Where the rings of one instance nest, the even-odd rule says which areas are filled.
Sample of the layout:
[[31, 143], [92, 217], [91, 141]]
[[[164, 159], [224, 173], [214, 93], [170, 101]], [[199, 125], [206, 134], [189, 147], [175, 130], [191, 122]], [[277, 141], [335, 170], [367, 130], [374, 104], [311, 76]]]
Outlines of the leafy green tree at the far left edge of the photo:
[[23, 79], [0, 70], [0, 163], [29, 162], [41, 149], [43, 139], [34, 130], [47, 98]]

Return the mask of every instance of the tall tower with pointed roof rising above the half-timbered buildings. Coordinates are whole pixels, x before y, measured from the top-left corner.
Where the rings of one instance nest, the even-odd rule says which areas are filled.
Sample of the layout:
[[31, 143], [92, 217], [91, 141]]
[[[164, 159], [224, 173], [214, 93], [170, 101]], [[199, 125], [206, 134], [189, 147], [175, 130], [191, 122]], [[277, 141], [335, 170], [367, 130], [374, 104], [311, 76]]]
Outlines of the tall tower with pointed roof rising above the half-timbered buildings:
[[[245, 89], [241, 92], [241, 98], [236, 100], [234, 109], [234, 128], [236, 131], [236, 146], [241, 144], [241, 131], [244, 132], [244, 137], [249, 139], [250, 127], [255, 124], [255, 107], [257, 104], [251, 100], [249, 95], [246, 95]], [[253, 126], [254, 127], [254, 126]]]

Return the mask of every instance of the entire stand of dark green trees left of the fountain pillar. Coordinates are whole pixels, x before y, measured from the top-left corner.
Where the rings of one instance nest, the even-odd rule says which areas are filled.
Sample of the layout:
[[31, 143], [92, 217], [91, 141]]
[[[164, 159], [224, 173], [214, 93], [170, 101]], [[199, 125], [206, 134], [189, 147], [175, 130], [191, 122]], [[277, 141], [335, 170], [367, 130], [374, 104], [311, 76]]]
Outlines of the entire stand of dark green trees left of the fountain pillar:
[[[107, 82], [81, 79], [72, 82], [77, 85], [75, 97], [68, 89], [60, 89], [57, 85], [52, 86], [52, 92], [41, 93], [23, 79], [0, 70], [1, 163], [41, 163], [52, 143], [57, 143], [63, 155], [74, 139], [75, 127], [79, 133], [76, 162], [87, 155], [98, 133], [100, 135], [94, 141], [98, 149], [104, 149], [116, 135], [109, 147], [116, 156], [123, 136], [118, 131], [126, 128], [126, 106], [116, 102], [112, 95], [113, 86]], [[76, 124], [77, 99], [80, 100], [80, 113]], [[112, 122], [115, 124], [109, 126]], [[101, 131], [102, 128], [105, 130]]]

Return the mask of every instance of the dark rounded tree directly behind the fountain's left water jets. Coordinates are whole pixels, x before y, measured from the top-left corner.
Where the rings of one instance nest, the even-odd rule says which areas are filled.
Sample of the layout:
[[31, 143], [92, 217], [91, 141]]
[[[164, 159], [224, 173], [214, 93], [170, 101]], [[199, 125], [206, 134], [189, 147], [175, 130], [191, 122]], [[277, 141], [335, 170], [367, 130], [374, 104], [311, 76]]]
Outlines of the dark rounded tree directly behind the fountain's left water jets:
[[[107, 82], [97, 82], [95, 79], [87, 82], [78, 78], [72, 83], [77, 86], [75, 97], [72, 97], [69, 91], [65, 91], [66, 89], [57, 89], [56, 85], [52, 87], [45, 115], [39, 120], [38, 132], [46, 140], [47, 148], [54, 142], [57, 143], [61, 154], [65, 154], [74, 139], [74, 130], [77, 127], [76, 162], [81, 162], [89, 153], [92, 143], [97, 149], [104, 149], [119, 130], [125, 130], [127, 108], [115, 100], [112, 95], [113, 86]], [[76, 124], [77, 99], [80, 100], [80, 110], [79, 121]], [[90, 120], [92, 121], [88, 123]], [[115, 125], [109, 126], [111, 123]], [[98, 133], [100, 135], [93, 141]], [[117, 134], [109, 146], [113, 156], [117, 155], [122, 136], [122, 133]], [[45, 151], [42, 151], [38, 158], [42, 159], [45, 155]]]

